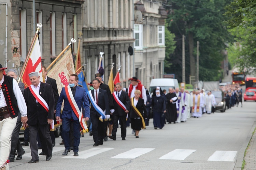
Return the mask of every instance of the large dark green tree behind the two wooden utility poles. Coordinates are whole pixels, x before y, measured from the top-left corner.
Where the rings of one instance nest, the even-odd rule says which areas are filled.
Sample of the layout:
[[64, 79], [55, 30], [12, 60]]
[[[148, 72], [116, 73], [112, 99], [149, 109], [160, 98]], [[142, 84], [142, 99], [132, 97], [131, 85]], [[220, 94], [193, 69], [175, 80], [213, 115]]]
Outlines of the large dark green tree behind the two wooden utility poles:
[[182, 34], [186, 36], [186, 82], [188, 75], [196, 75], [196, 42], [200, 42], [199, 79], [218, 80], [223, 50], [231, 36], [223, 22], [224, 7], [230, 0], [169, 0], [167, 22], [170, 31], [175, 34], [177, 48], [171, 57], [176, 77], [181, 80]]

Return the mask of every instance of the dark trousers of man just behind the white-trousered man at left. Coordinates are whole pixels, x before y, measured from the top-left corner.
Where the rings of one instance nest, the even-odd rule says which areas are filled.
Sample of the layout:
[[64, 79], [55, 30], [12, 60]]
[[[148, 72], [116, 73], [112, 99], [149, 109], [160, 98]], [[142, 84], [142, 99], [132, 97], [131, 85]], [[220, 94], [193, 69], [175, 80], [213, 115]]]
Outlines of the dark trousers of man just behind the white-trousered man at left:
[[20, 117], [21, 117], [21, 115], [19, 113], [18, 119], [16, 122], [16, 126], [12, 132], [11, 151], [10, 151], [9, 158], [15, 157], [16, 150], [17, 150], [18, 155], [22, 155], [22, 152], [23, 152], [23, 148], [22, 148], [22, 145], [20, 144], [20, 140], [19, 140], [19, 131], [20, 131], [20, 127], [22, 125], [22, 122], [20, 121]]

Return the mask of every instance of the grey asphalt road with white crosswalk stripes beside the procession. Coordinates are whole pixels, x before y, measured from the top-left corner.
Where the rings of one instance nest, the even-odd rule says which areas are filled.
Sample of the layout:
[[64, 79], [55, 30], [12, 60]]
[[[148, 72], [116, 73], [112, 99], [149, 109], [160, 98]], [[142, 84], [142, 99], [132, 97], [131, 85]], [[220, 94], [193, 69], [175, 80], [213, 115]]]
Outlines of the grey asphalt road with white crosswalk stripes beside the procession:
[[62, 156], [64, 147], [59, 145], [61, 138], [56, 138], [50, 161], [40, 156], [39, 163], [28, 164], [30, 148], [24, 147], [23, 159], [9, 166], [11, 170], [232, 170], [242, 164], [255, 120], [255, 102], [244, 102], [242, 108], [241, 105], [232, 107], [225, 113], [204, 114], [184, 123], [166, 124], [162, 130], [155, 130], [150, 119], [150, 125], [140, 132], [139, 138], [127, 127], [126, 140], [122, 140], [118, 128], [116, 141], [109, 139], [102, 146], [93, 147], [93, 137], [87, 133], [81, 137], [78, 157], [74, 157], [72, 151]]

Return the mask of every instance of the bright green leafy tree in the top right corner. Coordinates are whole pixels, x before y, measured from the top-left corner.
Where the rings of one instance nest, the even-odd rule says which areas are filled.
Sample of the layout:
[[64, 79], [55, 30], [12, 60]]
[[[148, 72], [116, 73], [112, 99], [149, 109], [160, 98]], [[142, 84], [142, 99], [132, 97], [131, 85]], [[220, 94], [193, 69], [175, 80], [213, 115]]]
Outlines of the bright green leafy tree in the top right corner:
[[[235, 37], [236, 48], [229, 48], [229, 57], [235, 58], [240, 69], [256, 68], [256, 1], [234, 0], [227, 7], [229, 32]], [[239, 46], [237, 46], [239, 44]], [[254, 68], [254, 69], [253, 69]]]

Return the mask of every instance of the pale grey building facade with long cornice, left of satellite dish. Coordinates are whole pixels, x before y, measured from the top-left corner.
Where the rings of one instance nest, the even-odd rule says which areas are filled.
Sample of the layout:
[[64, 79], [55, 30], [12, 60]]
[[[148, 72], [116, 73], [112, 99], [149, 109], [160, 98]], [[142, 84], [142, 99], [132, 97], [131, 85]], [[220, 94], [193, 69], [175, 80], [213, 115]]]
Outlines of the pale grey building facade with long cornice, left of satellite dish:
[[[128, 47], [133, 46], [133, 0], [85, 0], [83, 4], [83, 56], [87, 65], [87, 80], [94, 79], [100, 52], [104, 52], [103, 80], [108, 83], [111, 64], [115, 76], [119, 66], [120, 80], [127, 86], [133, 76], [133, 57]], [[127, 82], [127, 83], [126, 83]]]

